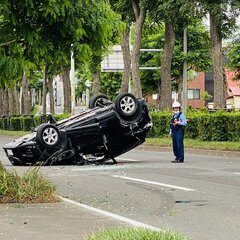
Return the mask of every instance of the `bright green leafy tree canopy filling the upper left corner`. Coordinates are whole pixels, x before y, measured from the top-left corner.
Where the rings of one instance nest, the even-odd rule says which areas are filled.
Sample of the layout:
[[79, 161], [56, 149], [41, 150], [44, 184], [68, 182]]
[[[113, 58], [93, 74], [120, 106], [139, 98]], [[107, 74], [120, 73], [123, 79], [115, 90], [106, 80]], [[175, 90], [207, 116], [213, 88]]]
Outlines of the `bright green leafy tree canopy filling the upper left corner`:
[[0, 73], [2, 82], [8, 82], [8, 71], [14, 72], [12, 65], [20, 59], [23, 64], [15, 66], [21, 66], [22, 72], [31, 62], [39, 70], [46, 69], [46, 79], [66, 72], [71, 50], [77, 63], [95, 57], [99, 66], [121, 27], [119, 16], [105, 0], [5, 0], [0, 11], [0, 69], [6, 69]]

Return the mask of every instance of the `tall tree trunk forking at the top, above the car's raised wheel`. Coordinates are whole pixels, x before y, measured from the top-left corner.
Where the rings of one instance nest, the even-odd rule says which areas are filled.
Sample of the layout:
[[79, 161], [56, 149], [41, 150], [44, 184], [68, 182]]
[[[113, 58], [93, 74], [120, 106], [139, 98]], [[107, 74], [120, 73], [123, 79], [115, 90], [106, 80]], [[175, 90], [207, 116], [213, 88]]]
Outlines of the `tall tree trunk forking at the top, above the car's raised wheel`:
[[140, 80], [139, 60], [140, 60], [140, 49], [142, 39], [142, 28], [146, 18], [146, 9], [140, 6], [140, 3], [132, 1], [133, 10], [136, 18], [136, 29], [134, 34], [134, 43], [132, 50], [132, 81], [133, 90], [132, 93], [141, 98], [142, 97], [142, 86]]

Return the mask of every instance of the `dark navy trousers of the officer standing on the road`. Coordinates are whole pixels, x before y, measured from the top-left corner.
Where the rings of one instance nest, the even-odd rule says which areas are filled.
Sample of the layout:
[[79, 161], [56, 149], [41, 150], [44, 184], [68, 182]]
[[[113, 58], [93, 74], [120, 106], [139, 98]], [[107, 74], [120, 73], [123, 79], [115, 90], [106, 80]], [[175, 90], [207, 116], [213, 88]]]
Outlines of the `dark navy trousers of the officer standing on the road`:
[[172, 131], [172, 144], [173, 154], [181, 162], [184, 161], [184, 130], [173, 130]]

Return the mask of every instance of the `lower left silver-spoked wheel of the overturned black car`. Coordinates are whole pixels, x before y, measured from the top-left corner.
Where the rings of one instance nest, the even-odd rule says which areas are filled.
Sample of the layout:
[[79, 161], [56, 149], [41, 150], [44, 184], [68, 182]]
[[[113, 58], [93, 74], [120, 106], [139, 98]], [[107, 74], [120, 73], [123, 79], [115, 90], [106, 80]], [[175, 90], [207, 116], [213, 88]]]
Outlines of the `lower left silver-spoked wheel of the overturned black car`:
[[50, 123], [41, 124], [37, 130], [36, 141], [46, 148], [56, 147], [60, 142], [59, 129]]

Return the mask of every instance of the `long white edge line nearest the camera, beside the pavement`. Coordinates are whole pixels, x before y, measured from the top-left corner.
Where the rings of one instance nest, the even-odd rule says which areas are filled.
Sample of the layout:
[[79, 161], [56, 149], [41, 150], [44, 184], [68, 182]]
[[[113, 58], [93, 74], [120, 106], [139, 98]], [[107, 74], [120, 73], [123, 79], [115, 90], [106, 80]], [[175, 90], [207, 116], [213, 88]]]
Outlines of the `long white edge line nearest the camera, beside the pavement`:
[[141, 223], [141, 222], [137, 222], [135, 220], [132, 220], [132, 219], [129, 219], [129, 218], [126, 218], [126, 217], [123, 217], [123, 216], [120, 216], [120, 215], [117, 215], [117, 214], [114, 214], [114, 213], [110, 213], [110, 212], [107, 212], [107, 211], [104, 211], [104, 210], [101, 210], [101, 209], [98, 209], [98, 208], [94, 208], [94, 207], [91, 207], [91, 206], [88, 206], [88, 205], [85, 205], [85, 204], [82, 204], [82, 203], [79, 203], [79, 202], [75, 202], [75, 201], [67, 199], [67, 198], [61, 197], [61, 199], [65, 202], [67, 202], [67, 203], [74, 204], [76, 206], [85, 208], [87, 210], [90, 210], [90, 211], [93, 211], [93, 212], [96, 212], [96, 213], [100, 213], [100, 214], [105, 215], [107, 217], [111, 217], [111, 218], [114, 218], [114, 219], [119, 220], [121, 222], [125, 222], [127, 224], [133, 225], [135, 227], [147, 228], [147, 229], [150, 229], [150, 230], [153, 230], [153, 231], [162, 231], [160, 228], [157, 228], [157, 227], [154, 227], [154, 226], [151, 226], [151, 225], [148, 225], [148, 224], [144, 224], [144, 223]]

